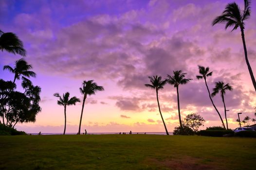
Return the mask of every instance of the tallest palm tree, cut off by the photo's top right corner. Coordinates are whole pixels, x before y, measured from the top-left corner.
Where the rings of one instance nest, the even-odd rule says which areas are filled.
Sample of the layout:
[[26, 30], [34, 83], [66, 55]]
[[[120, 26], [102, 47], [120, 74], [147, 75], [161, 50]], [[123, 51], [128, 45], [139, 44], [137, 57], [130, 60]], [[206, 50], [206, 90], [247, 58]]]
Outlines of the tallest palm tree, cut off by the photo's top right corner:
[[236, 30], [238, 27], [240, 28], [242, 41], [243, 41], [245, 62], [247, 64], [247, 67], [256, 91], [256, 81], [254, 78], [253, 70], [250, 66], [250, 63], [247, 57], [247, 50], [246, 50], [246, 44], [245, 44], [245, 38], [244, 38], [244, 25], [245, 25], [244, 21], [250, 17], [250, 14], [251, 14], [250, 5], [251, 5], [250, 0], [244, 0], [244, 9], [240, 10], [236, 2], [227, 4], [225, 10], [222, 12], [222, 15], [216, 17], [213, 20], [212, 25], [215, 25], [217, 23], [226, 23], [225, 29], [227, 29], [228, 27], [233, 27], [233, 30]]

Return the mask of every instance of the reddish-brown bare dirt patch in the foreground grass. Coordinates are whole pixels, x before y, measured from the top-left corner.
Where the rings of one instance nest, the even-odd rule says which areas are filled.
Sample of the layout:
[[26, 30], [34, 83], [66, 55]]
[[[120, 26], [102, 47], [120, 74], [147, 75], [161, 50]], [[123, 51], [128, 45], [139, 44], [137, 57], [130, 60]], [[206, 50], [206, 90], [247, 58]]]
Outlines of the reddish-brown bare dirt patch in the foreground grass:
[[223, 167], [216, 165], [214, 162], [208, 160], [205, 161], [190, 156], [183, 156], [182, 158], [165, 159], [148, 158], [145, 160], [145, 163], [149, 166], [154, 165], [161, 168], [167, 168], [170, 170], [223, 170]]

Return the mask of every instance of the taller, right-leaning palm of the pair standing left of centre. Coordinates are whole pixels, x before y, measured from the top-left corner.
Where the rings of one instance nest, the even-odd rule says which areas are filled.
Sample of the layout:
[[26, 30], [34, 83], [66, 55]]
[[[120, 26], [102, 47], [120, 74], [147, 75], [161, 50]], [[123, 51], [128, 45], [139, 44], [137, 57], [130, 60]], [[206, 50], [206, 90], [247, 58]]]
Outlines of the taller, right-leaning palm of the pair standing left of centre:
[[98, 86], [96, 83], [93, 83], [93, 80], [84, 81], [82, 85], [83, 85], [82, 88], [80, 87], [79, 89], [80, 89], [81, 94], [84, 95], [84, 98], [83, 98], [83, 105], [82, 105], [82, 111], [81, 111], [78, 134], [80, 134], [80, 130], [81, 130], [84, 104], [85, 104], [85, 100], [87, 98], [87, 95], [89, 95], [89, 96], [95, 95], [96, 91], [103, 91], [104, 90], [103, 86]]

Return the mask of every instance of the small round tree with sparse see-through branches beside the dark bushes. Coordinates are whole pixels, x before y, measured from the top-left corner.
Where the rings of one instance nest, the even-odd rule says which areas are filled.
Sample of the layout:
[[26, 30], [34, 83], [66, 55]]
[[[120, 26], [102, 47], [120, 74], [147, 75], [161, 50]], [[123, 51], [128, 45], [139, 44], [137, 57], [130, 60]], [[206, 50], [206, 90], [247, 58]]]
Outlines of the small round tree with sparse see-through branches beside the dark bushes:
[[191, 113], [184, 119], [184, 124], [189, 128], [193, 129], [194, 132], [198, 131], [200, 126], [203, 126], [205, 120], [197, 113]]

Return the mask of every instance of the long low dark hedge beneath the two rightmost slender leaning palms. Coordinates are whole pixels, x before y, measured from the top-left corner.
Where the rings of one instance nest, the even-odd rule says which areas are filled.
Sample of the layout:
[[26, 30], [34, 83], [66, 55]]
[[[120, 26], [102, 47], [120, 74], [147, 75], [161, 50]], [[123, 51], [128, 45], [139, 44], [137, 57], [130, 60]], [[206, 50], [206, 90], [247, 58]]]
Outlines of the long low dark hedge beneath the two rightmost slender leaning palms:
[[201, 130], [197, 133], [197, 135], [213, 136], [213, 137], [234, 136], [234, 131], [232, 130]]

